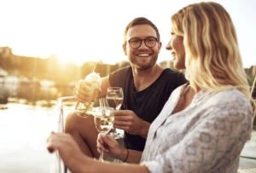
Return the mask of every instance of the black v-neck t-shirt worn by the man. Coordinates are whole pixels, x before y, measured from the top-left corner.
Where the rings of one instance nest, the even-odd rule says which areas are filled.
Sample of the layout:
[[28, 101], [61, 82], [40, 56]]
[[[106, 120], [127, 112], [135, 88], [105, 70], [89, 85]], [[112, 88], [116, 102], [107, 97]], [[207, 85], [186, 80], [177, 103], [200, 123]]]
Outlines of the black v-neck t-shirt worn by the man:
[[[172, 91], [186, 82], [182, 73], [166, 68], [153, 84], [137, 91], [133, 82], [131, 66], [126, 66], [109, 75], [110, 86], [121, 87], [124, 91], [124, 103], [121, 109], [129, 109], [148, 123], [152, 123]], [[143, 151], [146, 139], [125, 132], [125, 145], [129, 149]]]

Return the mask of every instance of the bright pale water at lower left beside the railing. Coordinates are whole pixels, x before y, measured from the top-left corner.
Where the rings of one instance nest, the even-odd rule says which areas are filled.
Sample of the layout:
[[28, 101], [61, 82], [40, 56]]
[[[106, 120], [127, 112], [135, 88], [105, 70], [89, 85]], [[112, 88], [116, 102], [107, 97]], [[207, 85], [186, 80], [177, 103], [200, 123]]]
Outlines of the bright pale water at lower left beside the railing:
[[54, 155], [46, 150], [50, 131], [57, 130], [55, 107], [9, 103], [0, 110], [0, 172], [48, 173]]

